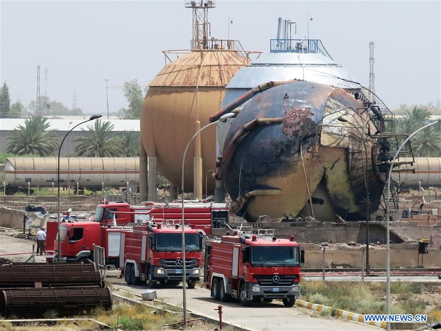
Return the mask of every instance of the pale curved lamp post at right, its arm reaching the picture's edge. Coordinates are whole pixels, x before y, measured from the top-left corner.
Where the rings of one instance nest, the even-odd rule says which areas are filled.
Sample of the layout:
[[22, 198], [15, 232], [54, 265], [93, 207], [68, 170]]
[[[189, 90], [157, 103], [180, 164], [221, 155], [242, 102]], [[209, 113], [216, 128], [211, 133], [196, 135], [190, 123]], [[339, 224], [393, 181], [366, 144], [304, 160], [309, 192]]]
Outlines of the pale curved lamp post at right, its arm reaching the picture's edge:
[[[390, 222], [389, 222], [389, 217], [390, 217], [390, 205], [389, 205], [389, 200], [390, 200], [390, 194], [391, 194], [391, 177], [392, 177], [392, 169], [393, 169], [393, 164], [395, 163], [395, 159], [398, 157], [398, 153], [400, 153], [401, 148], [407, 144], [407, 142], [410, 140], [410, 138], [412, 138], [415, 134], [417, 134], [419, 131], [425, 129], [426, 127], [430, 127], [434, 124], [441, 124], [441, 116], [438, 119], [438, 121], [434, 121], [432, 123], [429, 123], [427, 125], [425, 125], [424, 127], [420, 127], [419, 129], [417, 129], [415, 132], [413, 132], [409, 137], [406, 138], [406, 140], [404, 140], [404, 142], [400, 145], [400, 147], [398, 148], [398, 150], [396, 151], [395, 155], [393, 156], [392, 162], [391, 162], [391, 167], [389, 168], [389, 176], [388, 176], [388, 191], [387, 191], [387, 199], [386, 199], [386, 204], [387, 204], [387, 214], [386, 214], [386, 223], [387, 223], [387, 233], [386, 233], [386, 246], [387, 246], [387, 255], [386, 255], [386, 282], [387, 282], [387, 286], [386, 286], [386, 309], [387, 309], [387, 314], [388, 316], [391, 314], [391, 246], [390, 246]], [[388, 321], [387, 323], [387, 330], [390, 331], [391, 330], [391, 322]]]

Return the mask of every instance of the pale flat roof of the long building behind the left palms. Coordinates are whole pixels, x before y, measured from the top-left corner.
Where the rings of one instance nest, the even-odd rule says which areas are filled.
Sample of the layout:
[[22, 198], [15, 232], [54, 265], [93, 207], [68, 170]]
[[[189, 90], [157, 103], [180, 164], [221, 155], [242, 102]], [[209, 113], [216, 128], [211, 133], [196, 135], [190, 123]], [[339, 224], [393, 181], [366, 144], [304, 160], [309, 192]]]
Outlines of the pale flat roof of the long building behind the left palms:
[[[113, 131], [139, 131], [140, 124], [139, 120], [107, 120], [104, 117], [101, 118], [102, 121], [109, 121], [113, 124]], [[64, 120], [64, 119], [48, 119], [48, 123], [50, 124], [51, 130], [57, 131], [67, 131], [69, 128], [69, 123], [71, 122], [71, 126], [73, 127], [78, 123], [83, 122], [84, 120]], [[87, 122], [79, 127], [75, 127], [73, 131], [81, 131], [82, 128], [87, 130], [87, 126], [93, 124], [93, 121]], [[12, 131], [14, 128], [18, 126], [25, 126], [24, 118], [2, 118], [0, 121], [0, 130], [1, 131]]]

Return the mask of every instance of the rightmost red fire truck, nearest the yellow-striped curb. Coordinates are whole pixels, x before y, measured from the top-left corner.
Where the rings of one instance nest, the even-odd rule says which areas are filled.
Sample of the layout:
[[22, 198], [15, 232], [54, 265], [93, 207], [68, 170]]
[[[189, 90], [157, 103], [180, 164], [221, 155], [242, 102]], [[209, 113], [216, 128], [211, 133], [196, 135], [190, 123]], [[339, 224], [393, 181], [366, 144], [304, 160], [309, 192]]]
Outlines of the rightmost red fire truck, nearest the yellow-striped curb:
[[211, 296], [231, 298], [243, 306], [254, 300], [282, 299], [287, 307], [300, 294], [300, 265], [304, 250], [290, 239], [258, 235], [226, 235], [205, 243], [204, 283]]

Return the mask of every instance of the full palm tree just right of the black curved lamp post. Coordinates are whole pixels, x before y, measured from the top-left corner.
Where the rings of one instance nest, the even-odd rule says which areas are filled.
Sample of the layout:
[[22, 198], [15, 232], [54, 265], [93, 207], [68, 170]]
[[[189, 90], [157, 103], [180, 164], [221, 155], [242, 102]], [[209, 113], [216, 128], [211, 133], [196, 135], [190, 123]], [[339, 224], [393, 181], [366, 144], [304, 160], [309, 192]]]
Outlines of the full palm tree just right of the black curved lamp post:
[[121, 156], [120, 143], [116, 137], [109, 137], [113, 124], [109, 121], [95, 121], [82, 137], [75, 139], [75, 155], [80, 157], [116, 157]]

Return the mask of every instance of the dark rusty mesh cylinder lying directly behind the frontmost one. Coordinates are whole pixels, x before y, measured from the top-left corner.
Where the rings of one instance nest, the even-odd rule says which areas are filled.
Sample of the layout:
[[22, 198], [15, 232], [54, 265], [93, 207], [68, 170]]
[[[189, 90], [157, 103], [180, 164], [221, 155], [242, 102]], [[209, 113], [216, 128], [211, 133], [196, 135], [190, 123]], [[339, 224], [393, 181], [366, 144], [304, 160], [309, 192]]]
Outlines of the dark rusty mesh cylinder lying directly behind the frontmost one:
[[99, 285], [103, 283], [99, 271], [41, 271], [32, 270], [24, 273], [23, 271], [4, 271], [0, 273], [1, 287], [35, 287], [35, 283], [41, 287], [60, 287], [83, 285]]

